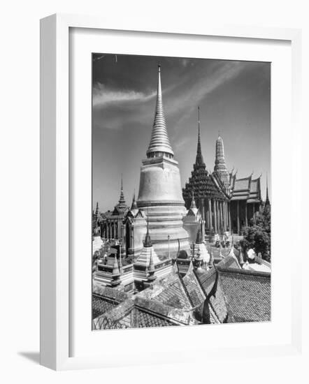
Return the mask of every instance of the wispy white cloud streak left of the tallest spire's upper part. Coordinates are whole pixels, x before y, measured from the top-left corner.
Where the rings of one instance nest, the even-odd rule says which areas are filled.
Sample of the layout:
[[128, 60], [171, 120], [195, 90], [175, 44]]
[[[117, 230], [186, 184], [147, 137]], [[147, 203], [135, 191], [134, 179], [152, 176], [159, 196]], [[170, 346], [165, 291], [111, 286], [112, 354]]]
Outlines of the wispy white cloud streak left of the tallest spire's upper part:
[[156, 92], [144, 94], [143, 92], [127, 90], [114, 90], [101, 83], [96, 83], [93, 90], [92, 104], [94, 107], [103, 107], [113, 103], [146, 102], [155, 97]]

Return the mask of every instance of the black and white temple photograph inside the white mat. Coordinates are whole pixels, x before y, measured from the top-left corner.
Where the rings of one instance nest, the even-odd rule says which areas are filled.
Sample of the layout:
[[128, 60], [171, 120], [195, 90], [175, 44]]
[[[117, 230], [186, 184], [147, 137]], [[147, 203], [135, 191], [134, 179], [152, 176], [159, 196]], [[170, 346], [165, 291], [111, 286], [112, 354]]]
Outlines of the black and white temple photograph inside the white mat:
[[93, 53], [91, 231], [92, 330], [271, 321], [271, 63]]

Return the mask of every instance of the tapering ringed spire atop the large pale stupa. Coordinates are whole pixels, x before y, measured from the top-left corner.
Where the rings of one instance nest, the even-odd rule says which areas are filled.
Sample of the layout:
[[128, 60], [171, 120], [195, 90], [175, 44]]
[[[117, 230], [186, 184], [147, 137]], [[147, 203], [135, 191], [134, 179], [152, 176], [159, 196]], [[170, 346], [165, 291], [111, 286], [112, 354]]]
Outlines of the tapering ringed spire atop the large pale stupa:
[[168, 139], [166, 121], [164, 117], [161, 90], [161, 66], [158, 65], [157, 105], [147, 157], [162, 156], [162, 154], [167, 154], [169, 157], [174, 156], [173, 149]]

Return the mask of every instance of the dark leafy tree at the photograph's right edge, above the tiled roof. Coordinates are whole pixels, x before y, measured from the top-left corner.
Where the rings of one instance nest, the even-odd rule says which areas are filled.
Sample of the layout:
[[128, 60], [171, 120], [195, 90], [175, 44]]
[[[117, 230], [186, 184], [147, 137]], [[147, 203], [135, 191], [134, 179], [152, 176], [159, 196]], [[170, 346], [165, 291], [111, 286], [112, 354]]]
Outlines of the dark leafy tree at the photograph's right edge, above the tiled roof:
[[271, 208], [264, 207], [254, 214], [250, 226], [243, 228], [243, 240], [240, 242], [243, 249], [254, 249], [255, 253], [261, 253], [262, 258], [271, 261]]

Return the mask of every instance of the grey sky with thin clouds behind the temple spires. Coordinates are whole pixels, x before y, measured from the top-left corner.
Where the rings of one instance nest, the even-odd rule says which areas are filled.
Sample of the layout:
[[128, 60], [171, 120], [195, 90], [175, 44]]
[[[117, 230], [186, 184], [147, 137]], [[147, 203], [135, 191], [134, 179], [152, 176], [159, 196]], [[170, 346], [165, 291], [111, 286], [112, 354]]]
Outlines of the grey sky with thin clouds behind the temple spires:
[[197, 108], [206, 168], [215, 165], [215, 141], [224, 141], [227, 168], [237, 177], [261, 176], [271, 199], [271, 64], [98, 53], [92, 55], [92, 195], [102, 212], [120, 197], [138, 195], [142, 159], [150, 142], [157, 96], [157, 65], [168, 136], [182, 187], [196, 156]]

